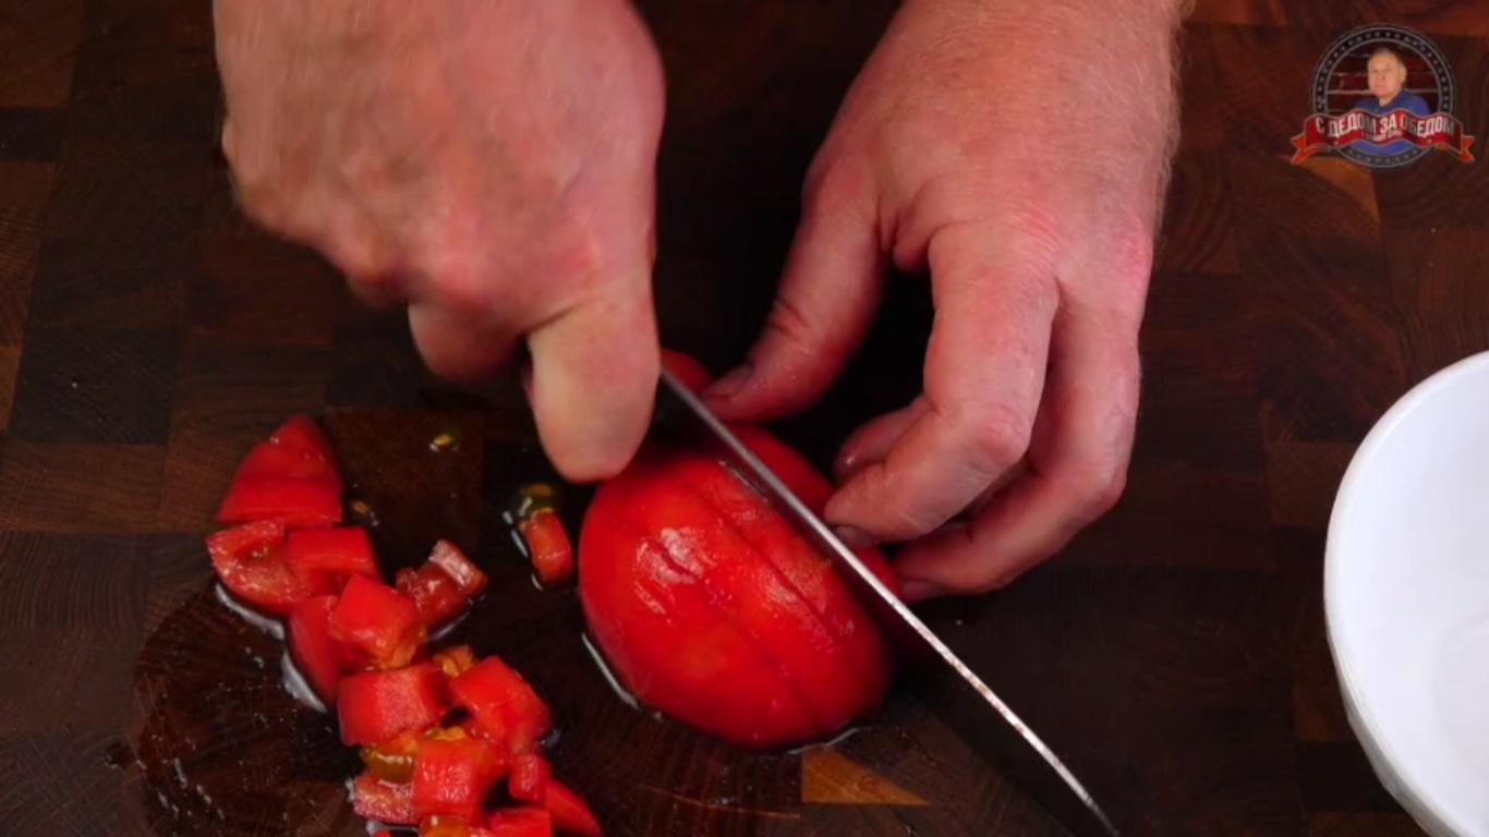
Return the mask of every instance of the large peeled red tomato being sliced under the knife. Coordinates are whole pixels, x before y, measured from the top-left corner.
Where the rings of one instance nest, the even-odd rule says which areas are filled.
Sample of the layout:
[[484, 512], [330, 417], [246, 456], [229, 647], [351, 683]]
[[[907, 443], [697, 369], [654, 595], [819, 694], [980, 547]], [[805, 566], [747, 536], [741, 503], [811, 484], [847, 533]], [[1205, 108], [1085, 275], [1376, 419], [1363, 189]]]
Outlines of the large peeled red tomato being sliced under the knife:
[[[820, 509], [831, 484], [756, 427], [734, 427]], [[898, 588], [874, 550], [859, 556]], [[837, 570], [715, 457], [646, 447], [597, 490], [579, 545], [596, 642], [642, 703], [740, 746], [846, 727], [892, 675], [884, 637]]]

